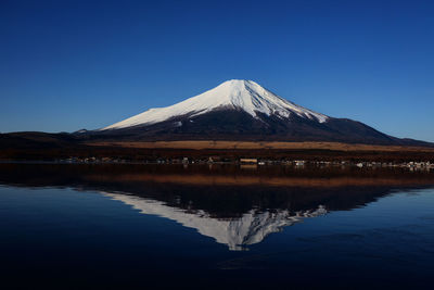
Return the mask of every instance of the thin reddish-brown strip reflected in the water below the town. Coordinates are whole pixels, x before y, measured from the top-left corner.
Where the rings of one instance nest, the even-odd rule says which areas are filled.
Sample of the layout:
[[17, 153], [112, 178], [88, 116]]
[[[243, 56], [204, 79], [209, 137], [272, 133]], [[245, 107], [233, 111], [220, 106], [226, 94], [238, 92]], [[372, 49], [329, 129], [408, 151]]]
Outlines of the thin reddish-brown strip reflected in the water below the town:
[[92, 181], [119, 181], [119, 182], [161, 182], [196, 186], [291, 186], [291, 187], [344, 187], [344, 186], [411, 186], [434, 185], [431, 178], [403, 178], [397, 177], [272, 177], [246, 175], [204, 175], [204, 174], [122, 174], [87, 176]]

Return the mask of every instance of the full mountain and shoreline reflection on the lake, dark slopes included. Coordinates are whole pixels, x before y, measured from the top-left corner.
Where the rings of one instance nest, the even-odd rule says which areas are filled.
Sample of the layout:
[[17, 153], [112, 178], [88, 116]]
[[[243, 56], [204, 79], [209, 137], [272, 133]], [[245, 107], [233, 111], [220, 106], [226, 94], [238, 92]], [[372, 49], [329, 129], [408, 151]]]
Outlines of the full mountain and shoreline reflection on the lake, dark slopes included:
[[240, 250], [306, 217], [363, 206], [403, 188], [431, 187], [434, 177], [339, 168], [0, 164], [0, 184], [97, 190]]

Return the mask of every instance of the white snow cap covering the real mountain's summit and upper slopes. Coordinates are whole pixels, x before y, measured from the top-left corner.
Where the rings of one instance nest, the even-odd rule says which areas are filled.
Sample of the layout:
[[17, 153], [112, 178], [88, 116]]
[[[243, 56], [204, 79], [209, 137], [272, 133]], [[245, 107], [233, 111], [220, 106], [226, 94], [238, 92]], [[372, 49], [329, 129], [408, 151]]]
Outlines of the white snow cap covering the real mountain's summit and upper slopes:
[[282, 118], [296, 114], [319, 123], [323, 123], [329, 118], [326, 115], [296, 105], [263, 88], [253, 80], [232, 79], [196, 97], [170, 106], [150, 109], [141, 114], [107, 126], [102, 130], [151, 125], [177, 116], [189, 115], [193, 117], [220, 109], [242, 110], [253, 117], [258, 117], [258, 113], [263, 113], [268, 116], [278, 115]]

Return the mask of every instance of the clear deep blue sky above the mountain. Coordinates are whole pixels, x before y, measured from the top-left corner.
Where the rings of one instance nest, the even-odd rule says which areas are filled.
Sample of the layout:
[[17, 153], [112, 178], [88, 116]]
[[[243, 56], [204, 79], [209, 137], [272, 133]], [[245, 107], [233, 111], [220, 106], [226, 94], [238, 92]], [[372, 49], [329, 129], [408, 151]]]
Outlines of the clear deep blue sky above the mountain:
[[232, 79], [434, 141], [433, 1], [0, 1], [0, 131], [94, 129]]

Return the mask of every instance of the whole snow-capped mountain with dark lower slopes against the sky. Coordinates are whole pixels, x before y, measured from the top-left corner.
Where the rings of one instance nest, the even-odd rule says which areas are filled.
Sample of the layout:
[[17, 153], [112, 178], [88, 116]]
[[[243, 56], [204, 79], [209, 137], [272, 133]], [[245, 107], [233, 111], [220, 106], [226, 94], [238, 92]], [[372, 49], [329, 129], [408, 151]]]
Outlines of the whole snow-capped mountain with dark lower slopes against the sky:
[[150, 109], [86, 133], [108, 140], [336, 141], [369, 144], [426, 143], [398, 139], [348, 118], [294, 104], [252, 80], [228, 80], [177, 104]]

